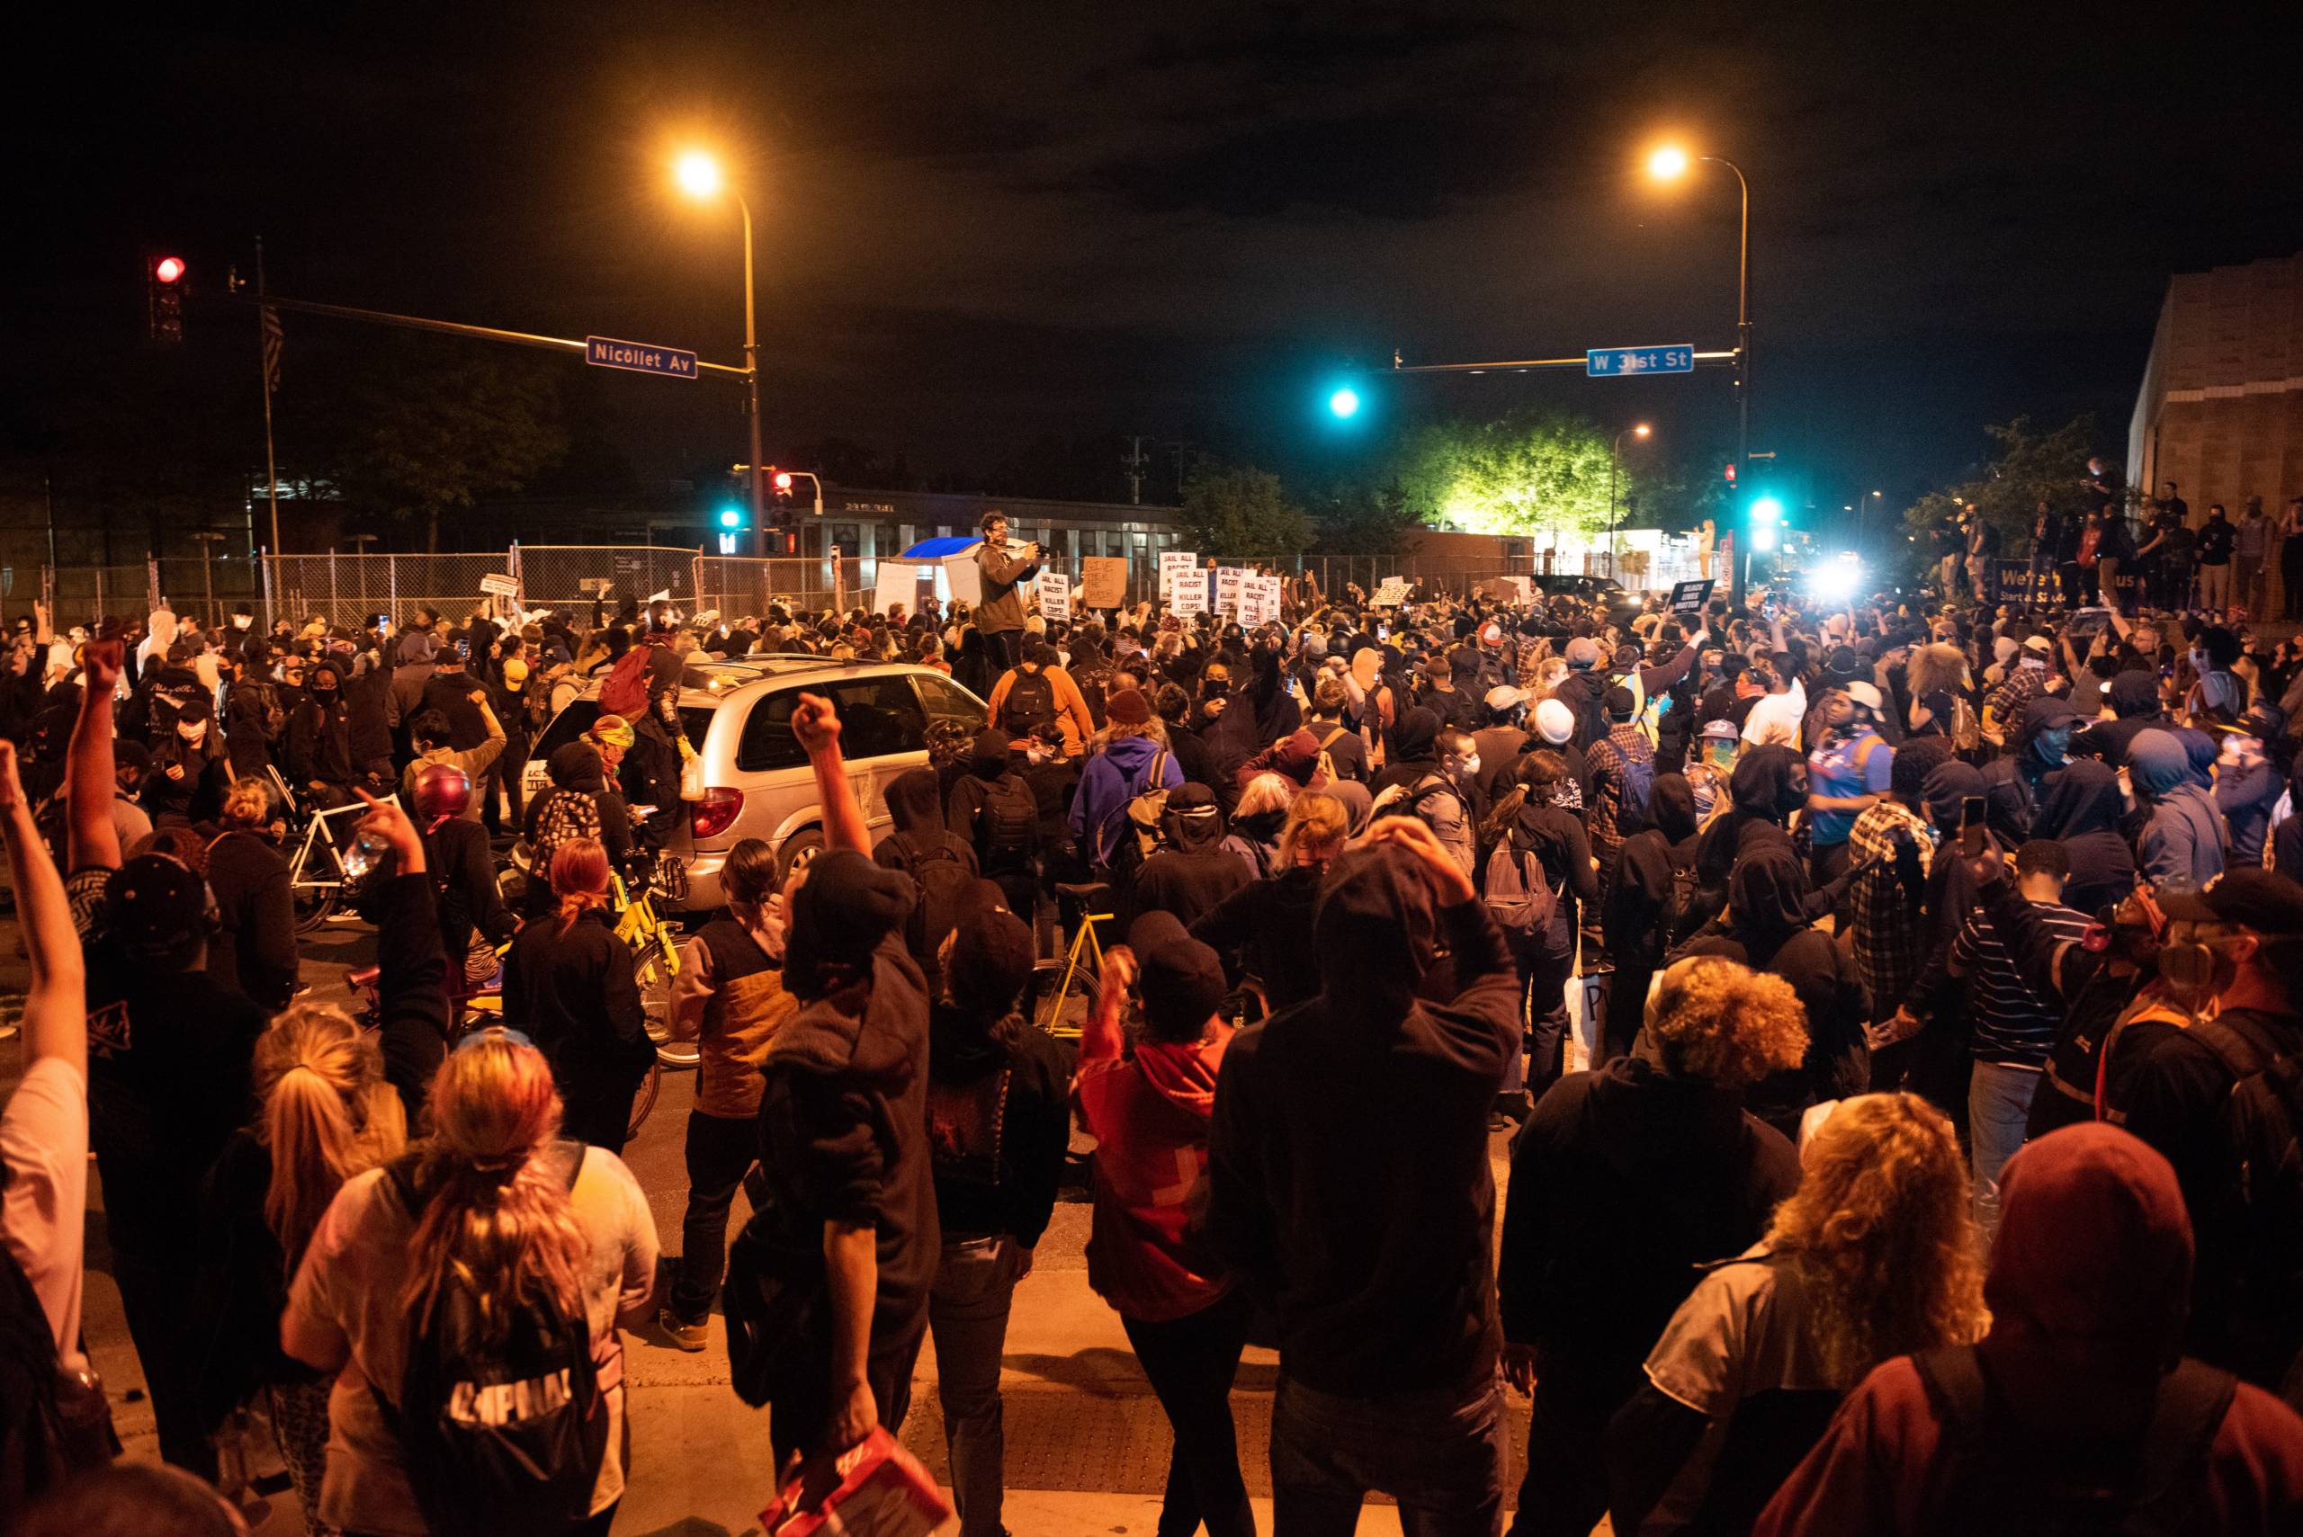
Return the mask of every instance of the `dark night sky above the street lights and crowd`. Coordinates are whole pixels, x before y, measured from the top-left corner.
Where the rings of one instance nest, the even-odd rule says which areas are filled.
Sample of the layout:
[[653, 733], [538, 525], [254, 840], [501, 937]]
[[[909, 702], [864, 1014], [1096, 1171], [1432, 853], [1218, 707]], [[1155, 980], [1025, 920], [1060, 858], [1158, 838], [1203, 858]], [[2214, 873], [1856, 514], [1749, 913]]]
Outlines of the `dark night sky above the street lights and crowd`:
[[[2271, 7], [343, 9], [53, 44], [14, 104], [9, 449], [136, 336], [147, 251], [212, 285], [258, 232], [283, 295], [739, 361], [739, 232], [670, 191], [689, 145], [758, 219], [769, 456], [836, 435], [921, 476], [1103, 433], [1317, 476], [1518, 405], [1725, 449], [1725, 373], [1317, 410], [1393, 347], [1732, 345], [1734, 179], [1651, 186], [1665, 136], [1753, 179], [1753, 446], [1819, 502], [1909, 499], [2017, 412], [2093, 410], [2123, 453], [2167, 274], [2303, 248]], [[735, 387], [585, 387], [647, 476], [739, 458]]]

